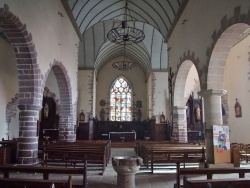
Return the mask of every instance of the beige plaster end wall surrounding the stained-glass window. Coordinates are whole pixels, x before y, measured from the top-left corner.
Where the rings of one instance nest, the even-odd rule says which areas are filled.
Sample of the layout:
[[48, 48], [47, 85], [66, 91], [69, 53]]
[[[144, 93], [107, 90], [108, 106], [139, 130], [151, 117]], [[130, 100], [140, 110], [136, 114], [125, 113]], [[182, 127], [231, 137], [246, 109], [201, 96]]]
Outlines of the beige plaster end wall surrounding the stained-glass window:
[[[133, 101], [142, 101], [142, 120], [147, 118], [147, 83], [142, 69], [137, 66], [130, 71], [120, 71], [112, 67], [112, 63], [120, 60], [120, 58], [113, 59], [105, 64], [97, 75], [96, 83], [96, 115], [100, 119], [101, 106], [100, 100], [104, 99], [106, 102], [110, 101], [110, 88], [113, 82], [119, 77], [124, 76], [132, 86]], [[129, 61], [129, 59], [128, 59]], [[109, 104], [105, 106], [106, 113], [109, 112]], [[105, 119], [107, 119], [106, 115]]]

